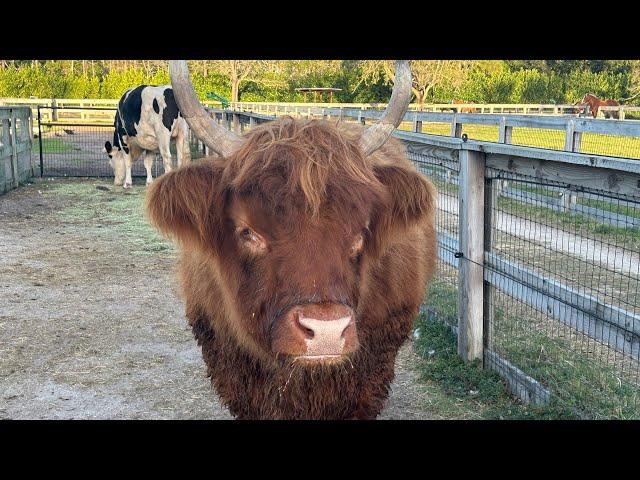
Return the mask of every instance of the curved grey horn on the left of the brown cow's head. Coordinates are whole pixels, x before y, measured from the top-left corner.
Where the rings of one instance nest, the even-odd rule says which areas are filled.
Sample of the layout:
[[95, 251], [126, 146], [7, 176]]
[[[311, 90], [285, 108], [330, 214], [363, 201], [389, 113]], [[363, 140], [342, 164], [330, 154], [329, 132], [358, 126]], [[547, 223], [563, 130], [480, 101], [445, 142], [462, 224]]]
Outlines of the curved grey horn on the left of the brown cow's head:
[[176, 103], [196, 137], [223, 157], [229, 156], [242, 145], [242, 138], [216, 124], [204, 109], [191, 83], [185, 60], [169, 61], [169, 76]]

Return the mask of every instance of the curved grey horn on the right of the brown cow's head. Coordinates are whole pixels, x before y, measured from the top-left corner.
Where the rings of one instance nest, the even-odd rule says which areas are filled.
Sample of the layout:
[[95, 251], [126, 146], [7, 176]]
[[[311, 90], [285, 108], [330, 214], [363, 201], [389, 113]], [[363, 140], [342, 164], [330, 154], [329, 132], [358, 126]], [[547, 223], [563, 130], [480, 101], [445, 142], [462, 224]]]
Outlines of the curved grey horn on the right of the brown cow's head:
[[408, 60], [396, 62], [396, 78], [391, 100], [380, 122], [368, 127], [360, 137], [360, 148], [365, 156], [371, 155], [389, 139], [400, 125], [411, 101], [411, 67]]

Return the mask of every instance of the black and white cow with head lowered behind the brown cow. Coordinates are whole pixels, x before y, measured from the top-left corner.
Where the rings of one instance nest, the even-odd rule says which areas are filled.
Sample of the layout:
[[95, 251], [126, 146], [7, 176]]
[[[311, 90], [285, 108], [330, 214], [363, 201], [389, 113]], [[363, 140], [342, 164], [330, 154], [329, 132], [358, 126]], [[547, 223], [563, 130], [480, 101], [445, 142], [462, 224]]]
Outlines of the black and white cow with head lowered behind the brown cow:
[[144, 153], [147, 185], [153, 181], [151, 167], [160, 152], [164, 171], [171, 171], [169, 144], [175, 139], [178, 166], [191, 160], [188, 145], [189, 127], [180, 115], [170, 86], [140, 85], [127, 90], [118, 102], [114, 121], [113, 145], [104, 150], [113, 168], [114, 185], [131, 186], [131, 164]]

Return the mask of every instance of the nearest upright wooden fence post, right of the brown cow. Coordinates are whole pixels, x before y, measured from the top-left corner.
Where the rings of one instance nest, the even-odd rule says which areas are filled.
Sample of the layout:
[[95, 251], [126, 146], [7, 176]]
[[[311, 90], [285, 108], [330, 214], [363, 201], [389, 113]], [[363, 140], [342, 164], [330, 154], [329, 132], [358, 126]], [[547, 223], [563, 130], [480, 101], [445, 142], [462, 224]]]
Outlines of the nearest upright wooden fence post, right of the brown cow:
[[460, 151], [458, 354], [483, 358], [484, 154]]

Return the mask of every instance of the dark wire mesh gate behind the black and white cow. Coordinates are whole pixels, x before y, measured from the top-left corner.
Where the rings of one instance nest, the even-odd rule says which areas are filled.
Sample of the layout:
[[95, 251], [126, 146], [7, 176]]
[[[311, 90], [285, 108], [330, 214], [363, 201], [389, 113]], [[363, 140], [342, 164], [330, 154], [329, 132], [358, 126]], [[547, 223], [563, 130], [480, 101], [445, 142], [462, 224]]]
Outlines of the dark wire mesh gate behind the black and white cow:
[[[40, 108], [46, 118], [65, 117], [65, 109], [60, 107]], [[115, 108], [73, 108], [75, 117], [64, 121], [41, 121], [39, 135], [34, 141], [34, 154], [40, 158], [42, 174], [52, 177], [112, 177], [113, 170], [109, 165], [109, 157], [104, 152], [105, 142], [113, 143], [113, 121], [117, 109]], [[86, 110], [86, 111], [85, 111]], [[96, 116], [96, 111], [100, 113]], [[66, 113], [66, 112], [65, 112]], [[110, 115], [108, 120], [107, 115]], [[65, 117], [66, 118], [66, 117]], [[175, 142], [170, 144], [173, 167], [177, 167]], [[197, 139], [190, 134], [189, 150], [191, 159], [204, 156], [204, 148]], [[160, 154], [156, 154], [151, 169], [152, 175], [157, 177], [164, 173], [164, 164]], [[131, 174], [134, 177], [145, 177], [146, 169], [143, 156], [133, 161]]]

